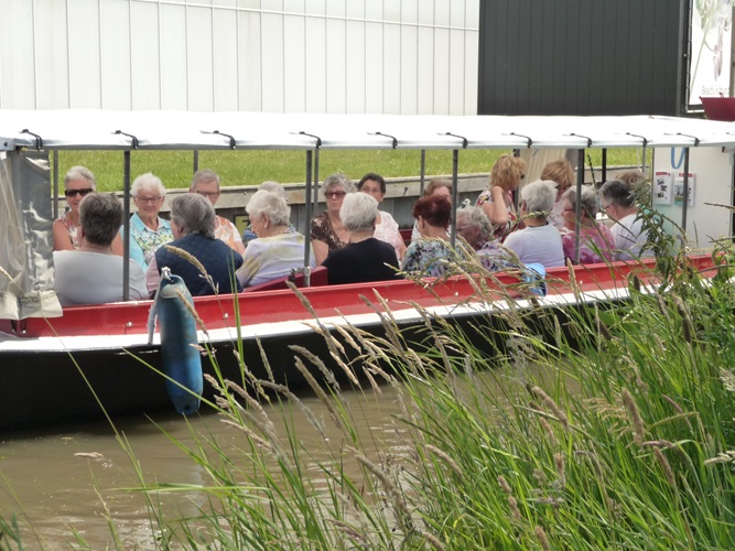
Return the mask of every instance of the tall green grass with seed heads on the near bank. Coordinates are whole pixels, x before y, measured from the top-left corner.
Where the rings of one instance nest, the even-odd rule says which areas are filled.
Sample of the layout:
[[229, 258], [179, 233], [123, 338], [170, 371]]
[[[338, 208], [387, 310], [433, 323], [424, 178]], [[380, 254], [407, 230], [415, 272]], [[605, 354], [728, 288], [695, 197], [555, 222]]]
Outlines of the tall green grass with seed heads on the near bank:
[[[735, 258], [725, 253], [726, 261]], [[398, 450], [376, 451], [374, 435], [357, 434], [359, 408], [307, 350], [294, 349], [294, 363], [322, 369], [325, 386], [312, 385], [324, 419], [271, 381], [251, 380], [249, 392], [213, 381], [223, 387], [223, 421], [246, 445], [225, 453], [197, 435], [186, 453], [206, 473], [201, 487], [141, 478], [151, 504], [165, 491], [203, 496], [199, 515], [176, 520], [151, 505], [151, 542], [161, 549], [735, 548], [735, 289], [727, 280], [735, 270], [725, 266], [710, 284], [682, 258], [672, 266], [679, 271], [651, 293], [633, 278], [621, 307], [591, 305], [566, 315], [510, 307], [477, 320], [482, 343], [429, 313], [423, 347], [409, 345], [390, 316], [385, 338], [350, 327], [338, 342], [325, 334], [344, 374], [365, 386], [368, 407], [380, 386], [366, 380], [394, 388], [402, 411], [394, 423], [404, 439]], [[480, 284], [478, 295], [486, 292]], [[477, 377], [488, 367], [501, 392]], [[313, 425], [310, 446], [290, 414], [280, 419], [275, 408], [274, 418], [262, 408], [263, 389], [275, 403], [303, 408], [293, 411]], [[287, 436], [275, 424], [285, 424]], [[7, 542], [12, 533], [6, 526]]]

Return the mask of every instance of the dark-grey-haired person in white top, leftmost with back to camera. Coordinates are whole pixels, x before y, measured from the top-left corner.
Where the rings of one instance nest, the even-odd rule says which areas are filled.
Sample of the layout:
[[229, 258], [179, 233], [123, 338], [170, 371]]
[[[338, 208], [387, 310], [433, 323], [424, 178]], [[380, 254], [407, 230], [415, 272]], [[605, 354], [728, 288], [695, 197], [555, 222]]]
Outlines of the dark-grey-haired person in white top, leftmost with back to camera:
[[[122, 257], [112, 241], [122, 224], [122, 205], [112, 194], [90, 193], [79, 203], [79, 248], [54, 251], [54, 289], [63, 306], [122, 300]], [[128, 296], [148, 299], [140, 264], [129, 260]]]

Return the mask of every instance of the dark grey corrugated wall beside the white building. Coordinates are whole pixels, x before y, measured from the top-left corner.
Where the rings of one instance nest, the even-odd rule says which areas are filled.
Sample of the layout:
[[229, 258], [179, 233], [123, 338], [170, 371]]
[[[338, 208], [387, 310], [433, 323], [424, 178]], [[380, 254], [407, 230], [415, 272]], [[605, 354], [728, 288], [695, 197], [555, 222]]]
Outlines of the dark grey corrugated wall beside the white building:
[[685, 0], [483, 0], [478, 112], [677, 115]]

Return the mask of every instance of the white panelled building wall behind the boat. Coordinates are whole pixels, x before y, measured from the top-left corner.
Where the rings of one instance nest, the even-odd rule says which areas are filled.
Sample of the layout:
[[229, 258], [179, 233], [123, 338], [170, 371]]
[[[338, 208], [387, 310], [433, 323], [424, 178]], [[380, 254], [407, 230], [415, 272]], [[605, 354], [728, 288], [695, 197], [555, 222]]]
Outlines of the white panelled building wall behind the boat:
[[479, 0], [0, 0], [0, 109], [475, 115]]

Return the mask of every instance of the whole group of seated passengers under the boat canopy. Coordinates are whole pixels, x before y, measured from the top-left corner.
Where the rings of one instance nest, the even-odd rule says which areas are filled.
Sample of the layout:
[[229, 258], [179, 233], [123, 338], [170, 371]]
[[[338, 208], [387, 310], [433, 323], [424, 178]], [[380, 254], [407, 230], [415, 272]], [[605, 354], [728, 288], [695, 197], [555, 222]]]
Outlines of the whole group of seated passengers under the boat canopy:
[[[598, 193], [585, 185], [577, 197], [572, 165], [552, 161], [542, 180], [520, 188], [516, 213], [514, 192], [527, 170], [526, 162], [512, 155], [495, 162], [476, 206], [456, 210], [456, 247], [448, 233], [452, 182], [432, 181], [414, 204], [408, 248], [393, 217], [379, 209], [387, 192], [382, 176], [368, 173], [356, 188], [344, 174], [332, 174], [323, 184], [326, 209], [311, 220], [307, 263], [325, 266], [328, 283], [339, 284], [393, 280], [402, 273], [440, 277], [450, 261], [473, 253], [488, 270], [515, 259], [548, 269], [566, 260], [591, 263], [641, 255], [647, 235], [628, 181], [607, 182]], [[89, 170], [75, 166], [67, 172], [67, 212], [53, 224], [55, 285], [65, 305], [122, 300], [122, 207], [115, 195], [95, 191]], [[130, 299], [153, 296], [163, 267], [182, 277], [193, 295], [205, 295], [237, 292], [304, 266], [305, 238], [291, 225], [291, 208], [277, 182], [264, 182], [248, 201], [245, 242], [236, 226], [215, 213], [220, 195], [215, 172], [197, 171], [190, 192], [171, 201], [169, 222], [160, 216], [166, 194], [161, 180], [151, 173], [134, 180]], [[615, 222], [612, 229], [597, 220], [601, 201], [602, 210]]]

